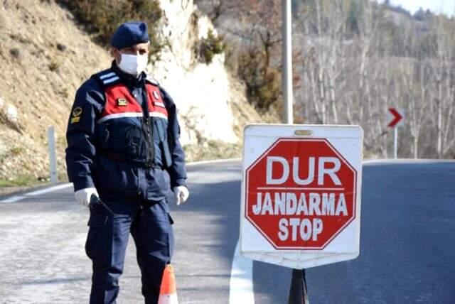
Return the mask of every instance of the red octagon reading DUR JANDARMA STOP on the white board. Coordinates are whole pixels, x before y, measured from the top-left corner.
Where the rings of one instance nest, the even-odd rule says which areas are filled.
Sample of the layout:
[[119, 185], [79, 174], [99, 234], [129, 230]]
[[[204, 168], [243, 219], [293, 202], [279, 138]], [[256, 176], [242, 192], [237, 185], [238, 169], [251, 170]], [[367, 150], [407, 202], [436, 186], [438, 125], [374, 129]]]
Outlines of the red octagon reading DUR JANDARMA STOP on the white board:
[[323, 249], [355, 219], [356, 178], [326, 139], [278, 139], [246, 171], [245, 217], [275, 249]]

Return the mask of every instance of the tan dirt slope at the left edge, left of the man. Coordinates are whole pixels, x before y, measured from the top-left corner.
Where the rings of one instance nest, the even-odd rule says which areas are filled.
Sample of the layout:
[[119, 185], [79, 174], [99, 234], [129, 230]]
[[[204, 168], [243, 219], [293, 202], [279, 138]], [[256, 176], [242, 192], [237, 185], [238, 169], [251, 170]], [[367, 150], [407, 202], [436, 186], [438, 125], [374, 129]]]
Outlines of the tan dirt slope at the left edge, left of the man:
[[0, 40], [0, 179], [47, 177], [50, 125], [57, 132], [63, 171], [75, 89], [109, 66], [109, 55], [53, 1], [1, 1]]

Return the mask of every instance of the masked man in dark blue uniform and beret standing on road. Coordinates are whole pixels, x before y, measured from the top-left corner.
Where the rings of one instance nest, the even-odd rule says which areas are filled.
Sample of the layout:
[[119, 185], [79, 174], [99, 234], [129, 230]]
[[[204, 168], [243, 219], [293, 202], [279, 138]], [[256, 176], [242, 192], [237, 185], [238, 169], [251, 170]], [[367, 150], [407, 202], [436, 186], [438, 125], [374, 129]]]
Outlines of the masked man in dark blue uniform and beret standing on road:
[[90, 207], [90, 303], [115, 303], [129, 234], [145, 303], [157, 303], [173, 253], [166, 196], [172, 188], [179, 205], [189, 195], [176, 105], [146, 75], [146, 23], [123, 23], [111, 44], [112, 66], [77, 90], [67, 130], [68, 177], [77, 202]]

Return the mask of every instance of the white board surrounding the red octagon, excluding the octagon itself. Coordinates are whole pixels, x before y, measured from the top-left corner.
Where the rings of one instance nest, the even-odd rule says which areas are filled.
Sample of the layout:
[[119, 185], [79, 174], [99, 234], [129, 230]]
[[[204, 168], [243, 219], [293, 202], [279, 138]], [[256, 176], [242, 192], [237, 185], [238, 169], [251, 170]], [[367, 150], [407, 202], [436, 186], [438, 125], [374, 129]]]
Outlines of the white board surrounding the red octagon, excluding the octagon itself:
[[[297, 136], [299, 134], [309, 134]], [[252, 168], [281, 140], [314, 139], [326, 141], [353, 168], [356, 174], [354, 217], [323, 248], [277, 249], [259, 232], [246, 214], [247, 170]], [[251, 141], [251, 142], [250, 142]], [[309, 268], [355, 259], [360, 253], [360, 199], [363, 130], [360, 126], [250, 124], [244, 129], [242, 201], [240, 208], [240, 254], [248, 259], [290, 268]], [[356, 151], [350, 153], [349, 151]], [[346, 153], [350, 153], [346, 159]], [[352, 155], [351, 155], [352, 154]], [[253, 230], [255, 229], [255, 231]], [[268, 245], [266, 245], [266, 243]]]

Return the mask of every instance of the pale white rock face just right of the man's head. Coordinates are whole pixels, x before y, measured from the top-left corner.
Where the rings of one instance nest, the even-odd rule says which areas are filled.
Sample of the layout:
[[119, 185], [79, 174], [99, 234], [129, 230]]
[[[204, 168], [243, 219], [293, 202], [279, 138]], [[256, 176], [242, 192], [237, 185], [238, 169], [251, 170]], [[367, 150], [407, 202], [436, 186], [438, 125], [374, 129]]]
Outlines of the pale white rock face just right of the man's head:
[[230, 101], [240, 97], [230, 88], [224, 54], [215, 55], [210, 64], [198, 62], [196, 54], [199, 40], [207, 38], [209, 30], [216, 35], [213, 24], [193, 0], [161, 0], [161, 9], [161, 35], [170, 47], [150, 70], [177, 104], [182, 143], [238, 141]]

